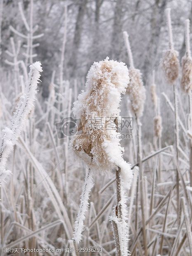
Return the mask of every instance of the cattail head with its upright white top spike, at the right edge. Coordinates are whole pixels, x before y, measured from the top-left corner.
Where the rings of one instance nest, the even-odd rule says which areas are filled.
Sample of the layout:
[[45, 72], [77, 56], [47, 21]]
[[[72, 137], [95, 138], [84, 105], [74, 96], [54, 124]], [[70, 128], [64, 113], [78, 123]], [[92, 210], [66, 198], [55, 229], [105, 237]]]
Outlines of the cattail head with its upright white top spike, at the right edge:
[[185, 20], [185, 45], [186, 52], [182, 58], [181, 88], [187, 94], [192, 90], [192, 57], [190, 50], [190, 20]]

